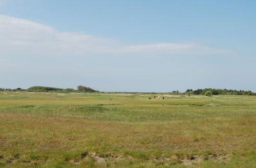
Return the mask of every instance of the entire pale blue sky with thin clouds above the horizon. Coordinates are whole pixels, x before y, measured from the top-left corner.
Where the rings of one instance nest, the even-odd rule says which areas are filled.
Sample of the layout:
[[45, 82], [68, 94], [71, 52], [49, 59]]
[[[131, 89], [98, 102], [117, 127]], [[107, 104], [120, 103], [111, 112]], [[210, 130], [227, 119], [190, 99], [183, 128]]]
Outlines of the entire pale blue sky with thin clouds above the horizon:
[[0, 88], [256, 92], [256, 1], [0, 0]]

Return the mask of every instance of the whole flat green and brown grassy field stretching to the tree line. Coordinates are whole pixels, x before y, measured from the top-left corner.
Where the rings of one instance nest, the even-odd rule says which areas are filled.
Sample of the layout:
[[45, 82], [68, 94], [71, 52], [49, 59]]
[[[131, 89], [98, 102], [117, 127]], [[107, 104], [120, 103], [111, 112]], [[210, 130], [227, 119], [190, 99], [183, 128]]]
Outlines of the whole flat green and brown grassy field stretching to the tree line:
[[255, 167], [255, 149], [256, 96], [0, 92], [0, 166]]

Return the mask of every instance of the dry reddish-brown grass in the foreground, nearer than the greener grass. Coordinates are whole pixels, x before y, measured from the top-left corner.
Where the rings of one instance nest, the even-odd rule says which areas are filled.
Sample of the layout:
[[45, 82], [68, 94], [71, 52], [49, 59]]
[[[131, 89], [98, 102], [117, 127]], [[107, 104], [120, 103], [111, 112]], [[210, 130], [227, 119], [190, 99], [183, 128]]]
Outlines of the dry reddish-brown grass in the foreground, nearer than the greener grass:
[[[246, 154], [256, 147], [252, 129], [255, 116], [148, 123], [2, 113], [0, 119], [0, 148], [5, 165], [44, 165], [46, 160], [55, 165], [65, 159], [68, 165], [108, 164], [77, 158], [82, 152], [95, 153], [99, 158], [108, 153], [120, 156], [120, 160], [108, 158], [119, 166], [126, 164], [124, 159], [145, 166], [159, 162], [197, 165], [209, 158], [216, 163], [228, 161], [233, 153]], [[71, 158], [67, 158], [67, 151], [74, 152]], [[30, 156], [33, 152], [38, 155], [34, 160]], [[55, 159], [60, 162], [52, 160], [54, 154], [59, 155]], [[11, 159], [15, 155], [19, 157]], [[191, 160], [194, 156], [198, 158]]]

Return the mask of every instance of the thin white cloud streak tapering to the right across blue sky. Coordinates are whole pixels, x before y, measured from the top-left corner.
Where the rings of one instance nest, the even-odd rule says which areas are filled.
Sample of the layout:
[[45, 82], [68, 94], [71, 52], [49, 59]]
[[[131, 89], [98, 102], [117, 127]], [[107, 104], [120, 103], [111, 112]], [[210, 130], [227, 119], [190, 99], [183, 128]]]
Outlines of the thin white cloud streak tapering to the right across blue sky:
[[81, 32], [60, 32], [45, 24], [0, 15], [0, 54], [2, 55], [191, 55], [225, 52], [227, 51], [190, 43], [124, 44]]

